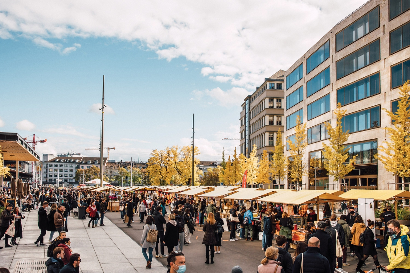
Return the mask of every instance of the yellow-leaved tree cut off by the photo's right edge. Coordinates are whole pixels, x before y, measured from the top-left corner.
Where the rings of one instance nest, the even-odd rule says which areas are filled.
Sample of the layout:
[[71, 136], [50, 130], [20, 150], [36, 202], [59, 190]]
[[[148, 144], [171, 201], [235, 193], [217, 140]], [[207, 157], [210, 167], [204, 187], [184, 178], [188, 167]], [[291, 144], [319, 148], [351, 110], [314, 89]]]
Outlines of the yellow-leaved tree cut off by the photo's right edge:
[[[398, 109], [395, 113], [383, 110], [392, 119], [393, 127], [387, 127], [389, 141], [379, 146], [376, 158], [383, 163], [386, 170], [394, 175], [410, 177], [410, 86], [407, 81], [399, 90]], [[380, 153], [381, 152], [381, 153]]]

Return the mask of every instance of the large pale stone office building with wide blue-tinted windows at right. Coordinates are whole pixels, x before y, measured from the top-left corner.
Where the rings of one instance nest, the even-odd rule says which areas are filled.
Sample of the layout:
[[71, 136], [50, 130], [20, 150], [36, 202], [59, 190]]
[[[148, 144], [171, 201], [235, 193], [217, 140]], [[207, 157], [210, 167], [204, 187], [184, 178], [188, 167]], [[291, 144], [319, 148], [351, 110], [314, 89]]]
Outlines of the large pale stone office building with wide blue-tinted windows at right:
[[[401, 177], [387, 172], [374, 155], [392, 126], [383, 108], [395, 111], [399, 87], [410, 79], [409, 9], [408, 0], [366, 2], [285, 72], [285, 136], [292, 140], [299, 115], [307, 128], [304, 162], [319, 162], [316, 181], [310, 172], [303, 189], [314, 189], [315, 183], [316, 189], [401, 188]], [[324, 123], [336, 126], [333, 110], [339, 102], [347, 110], [342, 119], [350, 135], [346, 146], [350, 157], [358, 155], [355, 169], [342, 180], [346, 184], [327, 175], [321, 152], [322, 143], [328, 143]]]

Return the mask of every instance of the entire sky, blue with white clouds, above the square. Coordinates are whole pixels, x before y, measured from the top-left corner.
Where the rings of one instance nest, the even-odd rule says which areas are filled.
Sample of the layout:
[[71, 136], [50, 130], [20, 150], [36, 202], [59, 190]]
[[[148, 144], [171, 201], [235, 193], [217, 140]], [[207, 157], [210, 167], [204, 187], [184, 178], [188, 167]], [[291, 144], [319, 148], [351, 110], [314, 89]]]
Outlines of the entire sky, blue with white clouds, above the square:
[[194, 113], [199, 158], [218, 160], [239, 146], [221, 139], [239, 137], [243, 98], [364, 2], [2, 2], [0, 130], [97, 156], [84, 149], [98, 147], [105, 75], [111, 159], [189, 144]]

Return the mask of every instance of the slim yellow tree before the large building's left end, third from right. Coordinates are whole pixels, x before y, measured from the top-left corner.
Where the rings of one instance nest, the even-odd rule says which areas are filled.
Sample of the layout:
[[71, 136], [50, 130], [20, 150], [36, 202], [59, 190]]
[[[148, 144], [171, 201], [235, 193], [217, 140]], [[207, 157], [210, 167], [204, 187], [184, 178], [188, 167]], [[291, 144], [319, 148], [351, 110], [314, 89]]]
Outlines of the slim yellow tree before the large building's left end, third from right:
[[301, 117], [297, 116], [294, 142], [287, 140], [291, 157], [287, 163], [288, 172], [291, 181], [295, 184], [301, 184], [303, 175], [307, 175], [306, 163], [303, 161], [307, 146], [306, 136], [306, 123], [301, 125]]

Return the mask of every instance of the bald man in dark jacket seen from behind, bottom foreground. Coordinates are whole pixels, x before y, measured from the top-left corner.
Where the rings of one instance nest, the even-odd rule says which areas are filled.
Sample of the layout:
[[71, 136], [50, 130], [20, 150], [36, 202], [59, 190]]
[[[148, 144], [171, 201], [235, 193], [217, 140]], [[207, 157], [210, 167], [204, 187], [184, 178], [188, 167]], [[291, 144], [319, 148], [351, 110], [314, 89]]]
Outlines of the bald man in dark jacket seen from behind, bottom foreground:
[[[328, 259], [321, 255], [320, 240], [311, 237], [307, 243], [306, 251], [295, 258], [292, 273], [331, 273]], [[302, 267], [303, 257], [303, 268]]]

